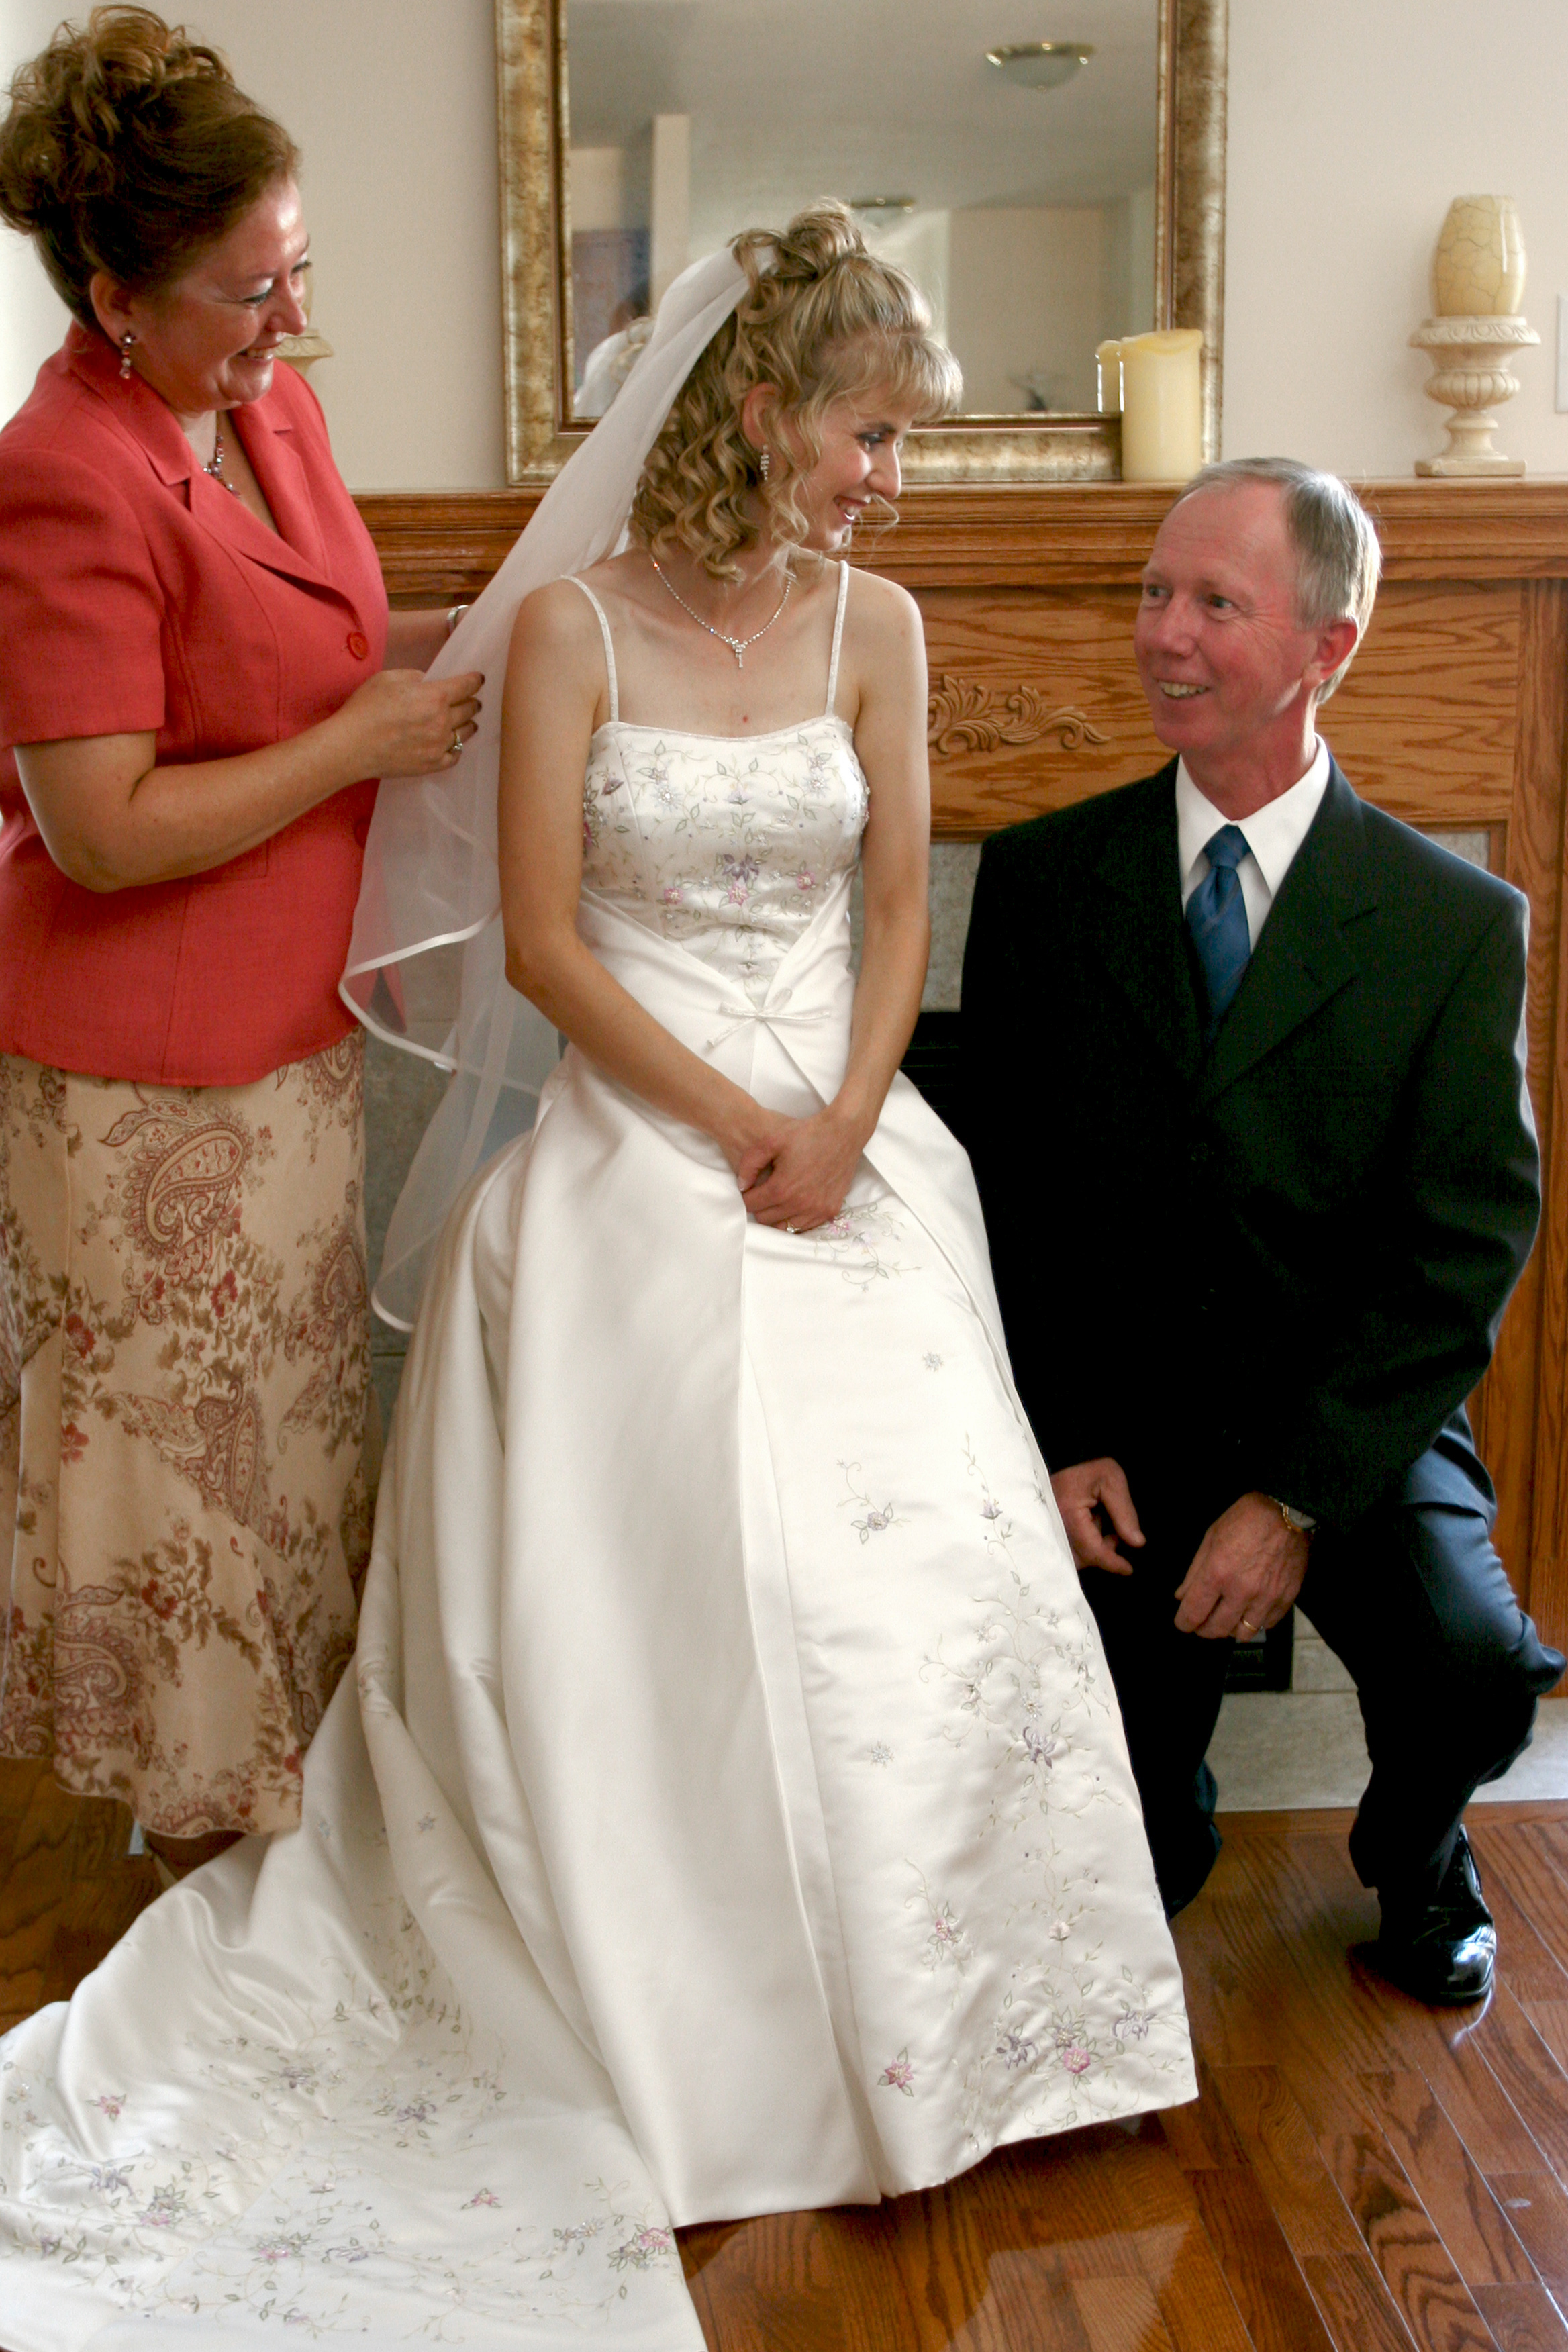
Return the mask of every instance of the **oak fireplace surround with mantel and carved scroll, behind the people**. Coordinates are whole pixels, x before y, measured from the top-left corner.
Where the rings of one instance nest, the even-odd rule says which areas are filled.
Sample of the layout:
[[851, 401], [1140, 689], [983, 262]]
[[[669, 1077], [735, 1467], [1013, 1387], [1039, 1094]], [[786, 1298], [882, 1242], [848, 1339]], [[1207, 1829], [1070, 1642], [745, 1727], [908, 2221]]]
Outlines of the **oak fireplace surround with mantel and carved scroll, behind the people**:
[[[1406, 823], [1490, 837], [1530, 901], [1530, 1091], [1542, 1240], [1474, 1411], [1497, 1538], [1542, 1635], [1568, 1642], [1568, 480], [1371, 482], [1385, 586], [1324, 734]], [[364, 496], [397, 604], [473, 597], [536, 492]], [[926, 619], [933, 835], [983, 840], [1164, 762], [1133, 668], [1138, 576], [1168, 492], [1063, 482], [905, 492], [860, 560]]]

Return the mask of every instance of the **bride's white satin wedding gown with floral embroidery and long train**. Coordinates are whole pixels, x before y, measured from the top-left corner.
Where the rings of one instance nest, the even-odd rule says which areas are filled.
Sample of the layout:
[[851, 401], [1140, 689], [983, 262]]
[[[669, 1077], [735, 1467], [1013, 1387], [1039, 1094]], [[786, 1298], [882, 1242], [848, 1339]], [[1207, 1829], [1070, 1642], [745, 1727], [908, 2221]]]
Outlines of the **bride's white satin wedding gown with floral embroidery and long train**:
[[[583, 936], [811, 1110], [863, 818], [832, 687], [611, 717]], [[900, 1077], [842, 1216], [773, 1232], [569, 1051], [430, 1275], [303, 1828], [0, 2042], [0, 2343], [693, 2352], [672, 2223], [1192, 2096], [969, 1162]]]

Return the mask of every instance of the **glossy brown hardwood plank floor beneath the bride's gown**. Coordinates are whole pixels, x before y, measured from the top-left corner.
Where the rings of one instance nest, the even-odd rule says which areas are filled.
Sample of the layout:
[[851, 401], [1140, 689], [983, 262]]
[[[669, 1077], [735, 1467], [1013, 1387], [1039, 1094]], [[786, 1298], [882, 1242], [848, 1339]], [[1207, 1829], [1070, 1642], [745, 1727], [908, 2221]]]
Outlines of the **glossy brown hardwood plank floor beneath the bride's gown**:
[[[875, 2211], [684, 2230], [715, 2352], [1568, 2352], [1568, 1804], [1479, 1806], [1483, 2013], [1363, 1976], [1342, 1813], [1237, 1813], [1175, 1936], [1199, 2105]], [[0, 2020], [150, 1900], [125, 1816], [0, 1764]]]

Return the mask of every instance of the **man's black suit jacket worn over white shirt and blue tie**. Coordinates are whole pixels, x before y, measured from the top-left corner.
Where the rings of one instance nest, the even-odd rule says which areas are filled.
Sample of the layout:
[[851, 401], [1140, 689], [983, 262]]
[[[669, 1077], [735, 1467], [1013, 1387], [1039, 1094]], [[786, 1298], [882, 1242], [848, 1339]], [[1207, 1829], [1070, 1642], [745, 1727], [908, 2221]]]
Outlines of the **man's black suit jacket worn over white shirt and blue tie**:
[[1349, 1524], [1432, 1446], [1540, 1214], [1526, 913], [1333, 767], [1204, 1049], [1175, 764], [987, 844], [964, 1141], [1046, 1461]]

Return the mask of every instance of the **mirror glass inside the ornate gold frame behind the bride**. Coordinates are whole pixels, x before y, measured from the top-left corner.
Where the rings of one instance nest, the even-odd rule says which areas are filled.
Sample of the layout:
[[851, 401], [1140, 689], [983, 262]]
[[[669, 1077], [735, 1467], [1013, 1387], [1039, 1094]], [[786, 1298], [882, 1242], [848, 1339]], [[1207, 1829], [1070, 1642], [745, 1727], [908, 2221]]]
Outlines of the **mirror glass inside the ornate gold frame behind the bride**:
[[1157, 0], [569, 0], [574, 416], [689, 261], [818, 195], [924, 287], [971, 416], [1095, 407], [1154, 325]]

